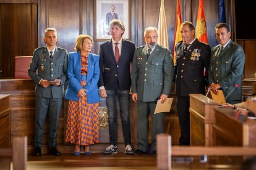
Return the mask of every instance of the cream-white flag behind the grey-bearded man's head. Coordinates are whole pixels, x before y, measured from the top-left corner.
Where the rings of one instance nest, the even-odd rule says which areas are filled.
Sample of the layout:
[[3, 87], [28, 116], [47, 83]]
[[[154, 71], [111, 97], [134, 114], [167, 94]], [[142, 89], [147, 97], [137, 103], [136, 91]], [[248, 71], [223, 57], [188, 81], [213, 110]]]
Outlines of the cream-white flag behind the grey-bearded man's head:
[[164, 12], [164, 0], [161, 0], [157, 30], [158, 30], [157, 43], [160, 46], [163, 46], [169, 49], [166, 18], [165, 18], [165, 12]]

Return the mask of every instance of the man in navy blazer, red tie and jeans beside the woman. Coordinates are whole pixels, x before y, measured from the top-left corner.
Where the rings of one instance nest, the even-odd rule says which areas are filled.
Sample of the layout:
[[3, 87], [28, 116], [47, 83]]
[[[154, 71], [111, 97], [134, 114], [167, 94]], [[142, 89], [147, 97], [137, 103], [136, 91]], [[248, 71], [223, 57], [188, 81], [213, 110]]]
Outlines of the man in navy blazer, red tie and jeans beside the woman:
[[109, 121], [109, 147], [104, 154], [117, 153], [117, 113], [116, 97], [119, 100], [122, 132], [127, 154], [133, 154], [130, 137], [129, 100], [130, 64], [134, 56], [135, 44], [122, 39], [125, 27], [120, 20], [112, 20], [110, 33], [112, 39], [100, 44], [100, 96], [106, 97]]

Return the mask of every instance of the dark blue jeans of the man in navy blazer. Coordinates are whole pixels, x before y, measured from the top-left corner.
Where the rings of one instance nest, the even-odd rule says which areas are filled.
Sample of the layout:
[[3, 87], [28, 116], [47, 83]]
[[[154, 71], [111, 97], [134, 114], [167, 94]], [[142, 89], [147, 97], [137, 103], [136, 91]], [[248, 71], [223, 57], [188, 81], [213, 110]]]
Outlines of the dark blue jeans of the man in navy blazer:
[[117, 107], [116, 97], [119, 101], [120, 117], [122, 122], [122, 134], [124, 136], [124, 144], [130, 145], [130, 118], [129, 118], [129, 91], [121, 91], [114, 89], [106, 91], [106, 105], [108, 107], [108, 123], [109, 123], [109, 142], [112, 145], [117, 144]]

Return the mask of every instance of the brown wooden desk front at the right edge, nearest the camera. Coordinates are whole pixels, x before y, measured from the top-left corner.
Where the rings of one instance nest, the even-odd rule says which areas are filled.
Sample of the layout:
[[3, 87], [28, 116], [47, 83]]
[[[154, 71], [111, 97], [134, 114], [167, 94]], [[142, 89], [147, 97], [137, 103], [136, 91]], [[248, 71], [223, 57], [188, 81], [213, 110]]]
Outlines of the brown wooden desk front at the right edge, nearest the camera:
[[214, 146], [256, 147], [256, 121], [233, 108], [215, 108]]

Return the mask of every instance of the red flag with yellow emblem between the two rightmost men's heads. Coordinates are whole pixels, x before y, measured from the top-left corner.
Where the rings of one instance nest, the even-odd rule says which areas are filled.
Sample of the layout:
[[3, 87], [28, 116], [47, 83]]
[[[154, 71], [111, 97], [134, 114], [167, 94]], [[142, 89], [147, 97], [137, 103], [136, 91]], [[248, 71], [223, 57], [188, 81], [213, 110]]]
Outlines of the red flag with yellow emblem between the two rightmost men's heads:
[[199, 0], [197, 25], [195, 26], [195, 36], [199, 41], [208, 43], [207, 26], [205, 21], [205, 13], [203, 12], [203, 6], [205, 6], [203, 0]]

